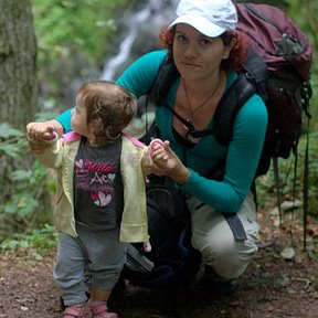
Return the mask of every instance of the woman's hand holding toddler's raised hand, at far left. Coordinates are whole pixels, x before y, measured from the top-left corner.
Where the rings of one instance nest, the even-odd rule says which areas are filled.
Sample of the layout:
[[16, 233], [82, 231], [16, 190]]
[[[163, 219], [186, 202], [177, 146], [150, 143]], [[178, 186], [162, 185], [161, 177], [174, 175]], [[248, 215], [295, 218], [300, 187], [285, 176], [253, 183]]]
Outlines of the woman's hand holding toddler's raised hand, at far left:
[[30, 150], [35, 155], [43, 153], [50, 147], [47, 141], [56, 135], [62, 136], [63, 134], [63, 126], [55, 119], [44, 123], [29, 123], [25, 129]]

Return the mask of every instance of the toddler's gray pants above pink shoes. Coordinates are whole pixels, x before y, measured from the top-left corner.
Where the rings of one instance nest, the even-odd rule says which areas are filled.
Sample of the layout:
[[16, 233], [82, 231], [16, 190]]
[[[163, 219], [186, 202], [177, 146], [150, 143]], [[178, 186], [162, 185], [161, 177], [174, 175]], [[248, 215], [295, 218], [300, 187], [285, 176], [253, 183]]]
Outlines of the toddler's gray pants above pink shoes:
[[126, 262], [127, 244], [119, 242], [119, 230], [94, 231], [77, 224], [76, 231], [77, 237], [59, 232], [53, 276], [65, 306], [86, 301], [89, 286], [110, 290]]

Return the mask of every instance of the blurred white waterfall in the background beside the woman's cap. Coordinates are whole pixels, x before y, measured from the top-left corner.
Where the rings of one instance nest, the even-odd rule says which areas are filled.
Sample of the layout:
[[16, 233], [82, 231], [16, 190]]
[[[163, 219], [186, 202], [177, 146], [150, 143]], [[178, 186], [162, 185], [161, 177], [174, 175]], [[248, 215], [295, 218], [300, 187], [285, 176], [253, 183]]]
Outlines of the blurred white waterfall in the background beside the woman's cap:
[[[145, 36], [145, 41], [157, 43], [160, 29], [173, 20], [178, 2], [179, 0], [147, 0], [141, 10], [127, 18], [125, 28], [123, 28], [126, 30], [126, 33], [124, 40], [118, 45], [118, 53], [105, 61], [100, 78], [114, 81], [132, 60], [138, 57], [135, 56], [132, 46], [136, 40], [140, 41], [142, 39], [142, 34], [146, 31], [147, 36]], [[149, 32], [151, 32], [150, 35]], [[149, 46], [151, 45], [147, 43], [146, 47]]]

